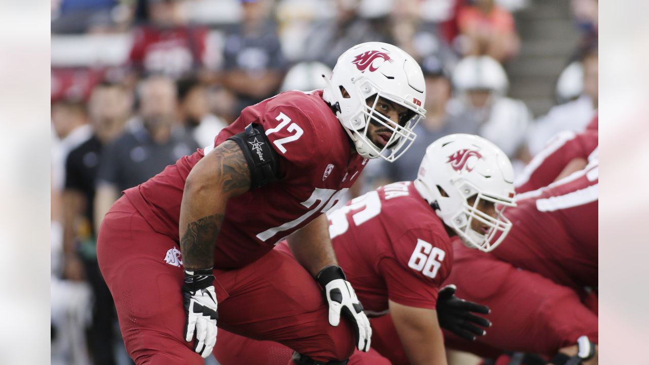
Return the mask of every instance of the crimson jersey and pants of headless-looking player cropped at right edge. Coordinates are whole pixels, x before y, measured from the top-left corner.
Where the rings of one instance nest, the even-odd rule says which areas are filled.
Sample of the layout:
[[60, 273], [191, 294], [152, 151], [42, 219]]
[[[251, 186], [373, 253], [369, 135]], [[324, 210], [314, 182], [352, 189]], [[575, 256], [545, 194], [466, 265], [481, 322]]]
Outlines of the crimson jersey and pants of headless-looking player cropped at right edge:
[[454, 270], [445, 284], [491, 308], [493, 325], [475, 344], [445, 333], [447, 345], [480, 355], [506, 349], [551, 356], [582, 335], [597, 343], [596, 296], [584, 289], [598, 281], [597, 161], [521, 194], [504, 214], [512, 229], [488, 255], [454, 242]]

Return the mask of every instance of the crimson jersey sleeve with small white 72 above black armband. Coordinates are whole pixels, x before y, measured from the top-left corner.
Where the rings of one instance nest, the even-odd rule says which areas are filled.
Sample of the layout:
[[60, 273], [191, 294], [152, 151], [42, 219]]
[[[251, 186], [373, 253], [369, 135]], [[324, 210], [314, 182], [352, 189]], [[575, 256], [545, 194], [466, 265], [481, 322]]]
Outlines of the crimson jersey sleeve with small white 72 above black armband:
[[295, 107], [271, 108], [257, 123], [262, 125], [285, 168], [308, 169], [326, 155], [326, 141], [312, 120]]

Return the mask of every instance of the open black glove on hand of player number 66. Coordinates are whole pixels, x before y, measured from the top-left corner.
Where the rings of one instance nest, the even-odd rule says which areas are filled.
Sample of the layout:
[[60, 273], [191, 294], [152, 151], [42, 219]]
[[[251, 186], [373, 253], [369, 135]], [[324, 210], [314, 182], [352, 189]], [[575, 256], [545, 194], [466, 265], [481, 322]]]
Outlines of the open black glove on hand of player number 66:
[[450, 284], [439, 290], [436, 308], [439, 326], [465, 340], [474, 341], [476, 336], [484, 336], [486, 333], [478, 326], [491, 327], [491, 322], [472, 312], [489, 314], [491, 310], [485, 305], [456, 297], [456, 289], [455, 285]]

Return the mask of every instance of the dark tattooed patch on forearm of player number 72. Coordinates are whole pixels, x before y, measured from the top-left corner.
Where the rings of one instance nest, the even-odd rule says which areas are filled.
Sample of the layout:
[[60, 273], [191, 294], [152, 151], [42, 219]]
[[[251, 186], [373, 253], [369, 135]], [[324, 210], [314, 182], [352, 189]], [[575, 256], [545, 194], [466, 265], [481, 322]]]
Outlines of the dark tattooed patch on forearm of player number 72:
[[180, 251], [185, 268], [204, 269], [214, 264], [214, 244], [219, 235], [223, 214], [214, 214], [193, 221], [180, 239]]

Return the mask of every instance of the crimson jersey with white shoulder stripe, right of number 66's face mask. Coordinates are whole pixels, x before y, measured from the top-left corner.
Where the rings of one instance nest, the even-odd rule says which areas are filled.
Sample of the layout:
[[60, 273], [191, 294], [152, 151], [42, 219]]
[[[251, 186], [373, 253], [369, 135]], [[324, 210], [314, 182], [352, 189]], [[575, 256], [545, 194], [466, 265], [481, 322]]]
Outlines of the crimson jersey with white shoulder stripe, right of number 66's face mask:
[[580, 290], [598, 283], [598, 161], [545, 188], [517, 195], [496, 258]]

